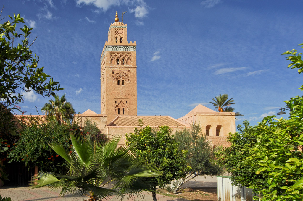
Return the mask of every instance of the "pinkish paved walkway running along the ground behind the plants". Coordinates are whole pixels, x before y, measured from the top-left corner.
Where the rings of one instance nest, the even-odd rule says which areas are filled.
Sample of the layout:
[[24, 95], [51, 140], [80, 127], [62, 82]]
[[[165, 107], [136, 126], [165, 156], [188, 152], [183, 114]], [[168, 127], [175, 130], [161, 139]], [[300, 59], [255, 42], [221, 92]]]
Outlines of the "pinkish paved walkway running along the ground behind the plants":
[[[198, 177], [195, 180], [190, 180], [186, 182], [182, 187], [217, 187], [217, 178], [216, 177]], [[0, 188], [0, 195], [10, 197], [12, 201], [29, 201], [29, 200], [42, 200], [42, 201], [83, 201], [87, 197], [73, 197], [72, 195], [66, 195], [64, 198], [58, 197], [60, 190], [52, 191], [47, 187], [42, 187], [38, 189], [30, 189], [30, 187], [10, 187], [3, 186]], [[142, 201], [152, 201], [151, 193], [145, 193], [144, 199], [137, 198], [135, 200]], [[157, 194], [158, 201], [187, 201], [183, 198], [175, 198]], [[109, 199], [112, 201], [121, 200], [120, 198]], [[124, 198], [122, 201], [128, 201], [129, 199]]]

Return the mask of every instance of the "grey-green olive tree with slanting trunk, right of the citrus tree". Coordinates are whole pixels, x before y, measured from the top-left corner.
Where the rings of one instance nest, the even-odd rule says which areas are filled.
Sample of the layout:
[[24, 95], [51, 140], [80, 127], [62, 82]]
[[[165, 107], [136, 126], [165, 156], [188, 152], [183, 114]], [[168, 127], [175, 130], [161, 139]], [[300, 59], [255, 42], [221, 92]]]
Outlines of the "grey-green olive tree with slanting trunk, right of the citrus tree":
[[218, 175], [222, 168], [216, 164], [217, 161], [212, 152], [211, 142], [202, 135], [200, 124], [191, 124], [190, 129], [178, 130], [175, 140], [178, 142], [179, 150], [186, 150], [186, 163], [191, 168], [186, 172], [184, 182], [196, 176]]

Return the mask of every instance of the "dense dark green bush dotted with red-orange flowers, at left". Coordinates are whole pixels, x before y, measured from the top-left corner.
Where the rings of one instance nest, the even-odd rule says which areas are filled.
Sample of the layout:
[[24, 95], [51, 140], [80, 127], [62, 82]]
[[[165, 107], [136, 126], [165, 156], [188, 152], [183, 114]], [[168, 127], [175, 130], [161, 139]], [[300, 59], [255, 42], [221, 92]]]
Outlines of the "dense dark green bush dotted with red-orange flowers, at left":
[[[19, 140], [8, 153], [11, 161], [21, 161], [25, 166], [37, 165], [43, 171], [64, 173], [65, 162], [48, 146], [49, 140], [56, 139], [66, 148], [71, 147], [69, 133], [72, 128], [59, 125], [56, 121], [39, 124], [38, 118], [31, 118], [31, 125], [23, 128]], [[80, 130], [80, 129], [79, 129]]]

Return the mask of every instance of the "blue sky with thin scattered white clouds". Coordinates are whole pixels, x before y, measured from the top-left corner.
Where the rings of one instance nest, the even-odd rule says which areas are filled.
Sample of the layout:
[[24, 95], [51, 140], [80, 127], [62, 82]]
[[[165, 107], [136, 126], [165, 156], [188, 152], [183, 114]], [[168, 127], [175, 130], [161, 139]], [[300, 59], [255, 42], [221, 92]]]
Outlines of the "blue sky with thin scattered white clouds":
[[[32, 51], [59, 81], [76, 112], [100, 113], [100, 55], [115, 12], [137, 42], [138, 115], [179, 118], [220, 93], [252, 125], [302, 95], [283, 52], [303, 43], [303, 1], [3, 0], [2, 17], [20, 13], [36, 36]], [[1, 18], [2, 18], [1, 17]], [[3, 23], [8, 18], [1, 21]], [[48, 101], [30, 92], [20, 104], [37, 114]], [[280, 116], [279, 116], [280, 117]], [[284, 118], [287, 115], [283, 115]]]

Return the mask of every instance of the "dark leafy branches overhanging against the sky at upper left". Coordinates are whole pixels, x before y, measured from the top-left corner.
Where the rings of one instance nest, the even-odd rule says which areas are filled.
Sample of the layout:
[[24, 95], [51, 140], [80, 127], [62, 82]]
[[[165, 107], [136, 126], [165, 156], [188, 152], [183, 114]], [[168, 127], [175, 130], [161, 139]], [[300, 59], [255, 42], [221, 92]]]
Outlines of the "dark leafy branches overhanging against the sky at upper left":
[[[20, 90], [35, 91], [42, 96], [54, 96], [54, 91], [62, 90], [58, 82], [38, 68], [39, 57], [29, 49], [32, 28], [24, 25], [21, 33], [16, 31], [19, 23], [24, 23], [20, 14], [0, 24], [0, 100], [5, 106], [23, 101]], [[14, 42], [15, 41], [15, 42]], [[17, 44], [17, 41], [20, 41]], [[50, 77], [49, 82], [47, 79]]]

